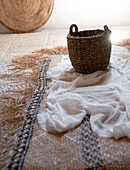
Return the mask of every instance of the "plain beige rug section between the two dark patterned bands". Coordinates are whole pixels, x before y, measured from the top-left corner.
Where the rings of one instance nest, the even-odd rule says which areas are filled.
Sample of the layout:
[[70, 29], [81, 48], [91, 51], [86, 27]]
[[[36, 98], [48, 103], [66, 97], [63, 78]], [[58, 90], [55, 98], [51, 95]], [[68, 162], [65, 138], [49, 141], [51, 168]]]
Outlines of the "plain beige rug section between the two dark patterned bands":
[[[61, 56], [51, 56], [50, 68], [60, 62]], [[49, 84], [49, 82], [48, 82]], [[44, 114], [46, 96], [40, 106]], [[81, 126], [67, 133], [44, 132], [36, 122], [34, 135], [24, 163], [24, 170], [30, 169], [84, 169], [81, 140]]]

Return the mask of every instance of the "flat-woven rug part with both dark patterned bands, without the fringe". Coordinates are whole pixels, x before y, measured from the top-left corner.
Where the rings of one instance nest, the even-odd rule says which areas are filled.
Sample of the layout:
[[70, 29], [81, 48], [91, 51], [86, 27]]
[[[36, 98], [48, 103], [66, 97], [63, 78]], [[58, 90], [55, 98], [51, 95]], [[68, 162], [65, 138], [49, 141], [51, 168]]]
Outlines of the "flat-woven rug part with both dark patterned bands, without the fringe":
[[46, 108], [46, 72], [61, 57], [62, 55], [53, 53], [50, 58], [43, 60], [39, 86], [28, 107], [9, 169], [129, 170], [130, 140], [98, 137], [91, 131], [88, 116], [78, 127], [62, 134], [48, 134], [39, 127], [36, 115], [44, 113]]

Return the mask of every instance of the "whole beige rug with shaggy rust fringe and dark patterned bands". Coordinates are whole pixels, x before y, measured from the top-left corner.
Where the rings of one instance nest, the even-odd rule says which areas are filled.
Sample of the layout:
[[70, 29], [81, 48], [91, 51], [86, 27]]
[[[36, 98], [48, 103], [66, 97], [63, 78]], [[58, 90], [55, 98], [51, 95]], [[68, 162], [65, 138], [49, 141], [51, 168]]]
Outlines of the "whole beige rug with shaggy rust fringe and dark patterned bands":
[[98, 137], [88, 116], [66, 133], [40, 129], [47, 70], [66, 54], [65, 47], [42, 49], [13, 60], [9, 74], [1, 75], [0, 169], [130, 169], [130, 140]]

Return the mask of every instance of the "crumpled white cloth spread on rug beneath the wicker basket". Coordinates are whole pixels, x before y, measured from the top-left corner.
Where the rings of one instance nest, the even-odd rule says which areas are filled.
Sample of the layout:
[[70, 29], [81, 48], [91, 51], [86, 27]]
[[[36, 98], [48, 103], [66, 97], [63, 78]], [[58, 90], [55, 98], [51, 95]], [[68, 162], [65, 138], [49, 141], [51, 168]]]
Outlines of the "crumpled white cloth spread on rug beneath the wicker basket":
[[38, 114], [40, 127], [64, 132], [90, 116], [92, 130], [101, 137], [130, 138], [130, 54], [122, 47], [112, 49], [110, 67], [84, 75], [74, 71], [64, 56], [48, 73], [52, 79], [48, 108]]

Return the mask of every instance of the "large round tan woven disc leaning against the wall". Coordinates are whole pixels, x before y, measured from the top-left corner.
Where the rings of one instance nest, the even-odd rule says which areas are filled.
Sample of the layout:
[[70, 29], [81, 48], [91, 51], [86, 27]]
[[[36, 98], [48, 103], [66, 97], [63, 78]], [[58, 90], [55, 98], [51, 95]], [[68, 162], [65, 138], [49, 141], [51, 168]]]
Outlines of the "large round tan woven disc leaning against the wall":
[[49, 19], [54, 0], [0, 0], [0, 21], [16, 32], [33, 31]]

